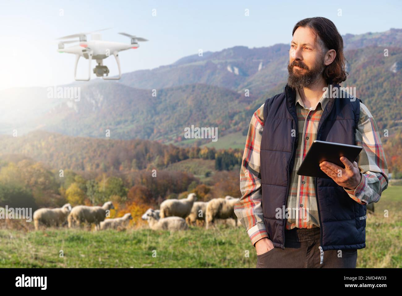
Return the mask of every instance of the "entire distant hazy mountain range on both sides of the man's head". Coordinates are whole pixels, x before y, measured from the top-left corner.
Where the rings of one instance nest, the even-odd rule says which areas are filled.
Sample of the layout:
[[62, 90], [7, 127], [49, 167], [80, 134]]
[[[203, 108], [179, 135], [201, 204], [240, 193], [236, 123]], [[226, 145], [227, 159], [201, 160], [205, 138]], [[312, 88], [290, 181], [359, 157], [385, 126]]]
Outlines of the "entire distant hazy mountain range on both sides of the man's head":
[[[342, 86], [356, 87], [378, 127], [397, 133], [402, 129], [402, 29], [343, 38], [349, 76]], [[217, 127], [218, 139], [239, 132], [244, 136], [252, 113], [283, 90], [288, 49], [285, 44], [236, 46], [126, 73], [118, 82], [75, 82], [70, 86], [80, 89], [79, 101], [49, 99], [47, 88], [4, 90], [0, 132], [16, 129], [21, 135], [43, 129], [104, 138], [109, 129], [114, 139], [192, 145], [195, 141], [184, 138], [184, 128], [194, 125]], [[213, 144], [211, 139], [197, 142]]]

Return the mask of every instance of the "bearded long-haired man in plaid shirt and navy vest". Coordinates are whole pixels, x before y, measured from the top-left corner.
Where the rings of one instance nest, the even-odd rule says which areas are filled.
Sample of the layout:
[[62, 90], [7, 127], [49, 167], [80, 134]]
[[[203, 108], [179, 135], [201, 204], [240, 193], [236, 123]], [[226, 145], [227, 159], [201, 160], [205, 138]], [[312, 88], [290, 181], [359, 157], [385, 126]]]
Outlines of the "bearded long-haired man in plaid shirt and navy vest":
[[[347, 72], [334, 23], [304, 19], [292, 35], [285, 90], [250, 121], [234, 210], [257, 267], [356, 267], [357, 249], [366, 246], [366, 206], [388, 187], [384, 150], [370, 111], [339, 89]], [[299, 176], [314, 140], [363, 149], [358, 162], [340, 158], [345, 169], [321, 162], [330, 179]]]

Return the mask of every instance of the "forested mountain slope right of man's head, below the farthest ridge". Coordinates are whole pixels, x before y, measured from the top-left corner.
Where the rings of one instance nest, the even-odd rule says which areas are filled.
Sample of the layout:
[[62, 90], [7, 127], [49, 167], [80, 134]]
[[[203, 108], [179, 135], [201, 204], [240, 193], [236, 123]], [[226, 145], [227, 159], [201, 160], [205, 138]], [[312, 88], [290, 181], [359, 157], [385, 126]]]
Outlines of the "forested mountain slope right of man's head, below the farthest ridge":
[[[342, 86], [355, 86], [380, 130], [402, 127], [402, 47], [365, 47], [346, 51], [349, 76]], [[384, 134], [384, 133], [381, 133]]]

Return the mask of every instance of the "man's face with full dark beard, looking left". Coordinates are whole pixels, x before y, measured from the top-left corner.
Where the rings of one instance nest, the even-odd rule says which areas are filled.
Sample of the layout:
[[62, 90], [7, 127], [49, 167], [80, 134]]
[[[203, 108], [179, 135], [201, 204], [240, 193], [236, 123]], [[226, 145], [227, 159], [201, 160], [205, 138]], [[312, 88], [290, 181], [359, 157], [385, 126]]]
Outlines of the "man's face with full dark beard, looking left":
[[290, 44], [287, 83], [293, 88], [308, 87], [322, 77], [324, 68], [324, 54], [313, 31], [298, 27]]

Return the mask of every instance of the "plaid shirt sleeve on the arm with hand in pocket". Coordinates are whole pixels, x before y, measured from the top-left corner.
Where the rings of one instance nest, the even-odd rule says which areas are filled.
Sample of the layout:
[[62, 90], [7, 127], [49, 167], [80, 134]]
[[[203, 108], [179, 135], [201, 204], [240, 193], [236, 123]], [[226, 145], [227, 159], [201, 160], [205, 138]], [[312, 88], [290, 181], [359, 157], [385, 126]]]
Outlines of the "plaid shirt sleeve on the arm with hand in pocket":
[[252, 115], [246, 146], [240, 168], [240, 191], [242, 197], [234, 205], [234, 212], [247, 230], [252, 245], [264, 237], [269, 237], [264, 224], [261, 174], [260, 145], [263, 135], [264, 104]]

